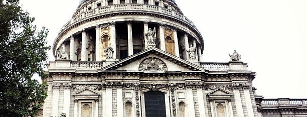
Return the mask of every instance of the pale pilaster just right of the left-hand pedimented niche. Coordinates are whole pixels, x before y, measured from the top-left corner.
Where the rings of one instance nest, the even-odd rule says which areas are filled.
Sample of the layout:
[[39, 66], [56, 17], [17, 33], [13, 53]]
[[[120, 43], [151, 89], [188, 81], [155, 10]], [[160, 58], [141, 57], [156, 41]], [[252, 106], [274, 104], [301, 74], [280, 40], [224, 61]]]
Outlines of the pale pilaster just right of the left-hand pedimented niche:
[[106, 95], [106, 117], [112, 117], [112, 85], [105, 90]]

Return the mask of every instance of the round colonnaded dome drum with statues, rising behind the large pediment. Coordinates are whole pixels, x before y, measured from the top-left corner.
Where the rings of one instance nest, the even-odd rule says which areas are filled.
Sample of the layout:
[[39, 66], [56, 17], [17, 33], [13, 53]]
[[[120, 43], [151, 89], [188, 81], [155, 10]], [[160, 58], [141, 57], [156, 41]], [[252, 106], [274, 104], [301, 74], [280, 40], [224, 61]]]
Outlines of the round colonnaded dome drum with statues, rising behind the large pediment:
[[54, 42], [55, 57], [120, 60], [156, 47], [188, 61], [202, 60], [202, 36], [173, 0], [123, 1], [80, 1]]

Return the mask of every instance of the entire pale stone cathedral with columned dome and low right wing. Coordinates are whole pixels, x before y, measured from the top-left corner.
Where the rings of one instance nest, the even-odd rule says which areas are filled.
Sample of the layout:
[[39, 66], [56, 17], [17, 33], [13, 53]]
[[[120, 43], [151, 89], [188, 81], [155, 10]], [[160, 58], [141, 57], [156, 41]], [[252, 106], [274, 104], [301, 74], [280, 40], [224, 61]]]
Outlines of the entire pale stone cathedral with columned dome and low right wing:
[[307, 99], [263, 99], [234, 51], [204, 39], [175, 0], [80, 0], [54, 40], [40, 117], [307, 117]]

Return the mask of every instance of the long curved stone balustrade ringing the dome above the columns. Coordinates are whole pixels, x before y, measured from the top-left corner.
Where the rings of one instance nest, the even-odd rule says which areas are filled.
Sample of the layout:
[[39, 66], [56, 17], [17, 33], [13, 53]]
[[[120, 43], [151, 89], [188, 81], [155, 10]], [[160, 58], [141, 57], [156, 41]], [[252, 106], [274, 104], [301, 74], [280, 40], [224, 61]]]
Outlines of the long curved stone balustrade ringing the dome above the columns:
[[196, 26], [194, 25], [194, 23], [190, 19], [188, 19], [183, 14], [181, 14], [181, 13], [175, 11], [175, 10], [171, 10], [171, 9], [168, 9], [168, 8], [155, 6], [155, 5], [148, 5], [148, 4], [115, 4], [115, 5], [97, 7], [97, 8], [94, 8], [94, 9], [91, 9], [91, 10], [88, 10], [86, 12], [82, 12], [82, 13], [79, 13], [79, 14], [73, 16], [73, 18], [71, 20], [69, 20], [61, 28], [60, 32], [62, 32], [64, 29], [66, 29], [70, 25], [74, 24], [75, 22], [82, 20], [82, 19], [86, 19], [87, 17], [91, 17], [91, 16], [99, 15], [99, 14], [105, 14], [105, 13], [108, 13], [108, 12], [126, 11], [126, 10], [150, 11], [150, 12], [157, 12], [157, 13], [166, 14], [166, 15], [169, 15], [169, 16], [173, 16], [177, 19], [180, 19], [180, 20], [186, 22], [187, 24], [190, 24], [195, 29], [197, 29]]

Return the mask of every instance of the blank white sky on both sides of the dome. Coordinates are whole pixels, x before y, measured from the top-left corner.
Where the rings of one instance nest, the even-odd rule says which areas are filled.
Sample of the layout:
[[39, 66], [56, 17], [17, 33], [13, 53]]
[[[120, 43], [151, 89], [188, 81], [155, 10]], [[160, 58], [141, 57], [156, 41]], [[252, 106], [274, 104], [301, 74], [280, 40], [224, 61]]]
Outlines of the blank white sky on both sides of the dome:
[[[53, 44], [79, 0], [20, 0]], [[205, 41], [204, 62], [237, 50], [265, 98], [307, 98], [307, 0], [176, 0]], [[52, 52], [49, 59], [54, 60]]]

